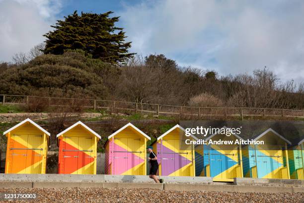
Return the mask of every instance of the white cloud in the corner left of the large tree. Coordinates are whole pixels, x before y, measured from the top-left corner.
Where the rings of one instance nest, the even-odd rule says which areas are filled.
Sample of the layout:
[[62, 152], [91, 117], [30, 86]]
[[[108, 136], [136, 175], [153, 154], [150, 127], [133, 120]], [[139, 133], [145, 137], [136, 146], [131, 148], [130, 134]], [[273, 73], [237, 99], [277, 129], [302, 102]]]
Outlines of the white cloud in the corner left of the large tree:
[[0, 0], [0, 61], [44, 41], [61, 0]]

